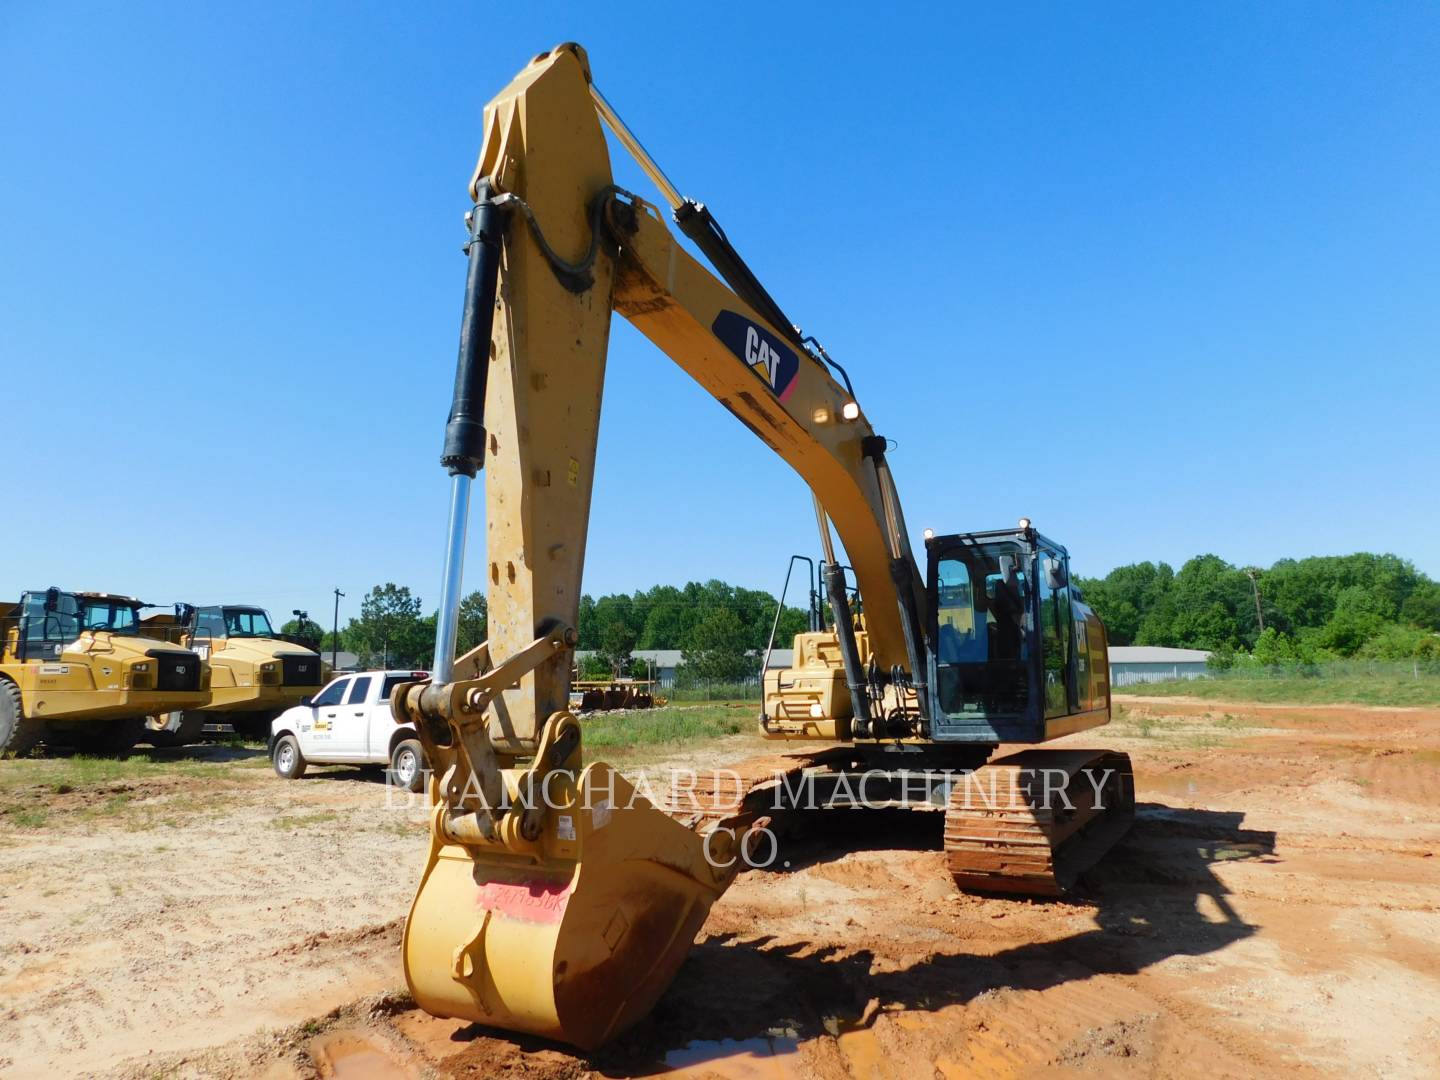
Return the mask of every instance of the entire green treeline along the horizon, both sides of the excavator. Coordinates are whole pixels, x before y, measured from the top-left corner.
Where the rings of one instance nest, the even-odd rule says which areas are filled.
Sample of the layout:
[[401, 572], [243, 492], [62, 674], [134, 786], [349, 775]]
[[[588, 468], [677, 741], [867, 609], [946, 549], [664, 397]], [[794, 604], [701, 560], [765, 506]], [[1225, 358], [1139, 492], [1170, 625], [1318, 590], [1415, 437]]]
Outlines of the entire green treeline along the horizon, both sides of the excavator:
[[[1210, 649], [1221, 665], [1237, 655], [1260, 664], [1440, 660], [1440, 585], [1394, 554], [1282, 559], [1269, 569], [1202, 554], [1179, 570], [1133, 563], [1076, 585], [1115, 645]], [[408, 588], [377, 585], [340, 631], [338, 647], [363, 667], [429, 667], [435, 619]], [[576, 629], [579, 648], [592, 654], [585, 674], [644, 674], [632, 664], [635, 651], [680, 649], [683, 678], [724, 683], [759, 672], [773, 619], [770, 593], [708, 580], [586, 595]], [[789, 648], [802, 629], [805, 612], [786, 608], [776, 645]], [[485, 595], [472, 592], [461, 602], [458, 651], [482, 642], [487, 631]], [[327, 634], [323, 648], [333, 644]]]

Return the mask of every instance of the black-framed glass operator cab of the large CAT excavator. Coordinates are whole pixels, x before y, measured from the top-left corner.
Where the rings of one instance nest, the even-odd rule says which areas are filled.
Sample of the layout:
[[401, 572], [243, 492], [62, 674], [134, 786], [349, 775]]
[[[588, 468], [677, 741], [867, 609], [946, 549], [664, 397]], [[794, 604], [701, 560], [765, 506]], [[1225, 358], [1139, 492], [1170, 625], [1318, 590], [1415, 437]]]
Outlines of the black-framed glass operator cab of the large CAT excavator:
[[937, 742], [1038, 743], [1109, 720], [1104, 625], [1061, 544], [1027, 523], [926, 549]]

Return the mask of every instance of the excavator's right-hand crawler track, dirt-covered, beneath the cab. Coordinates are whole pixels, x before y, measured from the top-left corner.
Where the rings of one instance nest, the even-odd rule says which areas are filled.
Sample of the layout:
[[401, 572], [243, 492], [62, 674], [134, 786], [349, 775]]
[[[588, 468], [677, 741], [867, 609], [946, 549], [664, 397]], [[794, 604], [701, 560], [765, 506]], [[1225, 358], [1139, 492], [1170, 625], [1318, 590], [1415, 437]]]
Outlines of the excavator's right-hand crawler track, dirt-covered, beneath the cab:
[[1063, 896], [1133, 821], [1129, 755], [1021, 750], [950, 791], [946, 864], [965, 890]]

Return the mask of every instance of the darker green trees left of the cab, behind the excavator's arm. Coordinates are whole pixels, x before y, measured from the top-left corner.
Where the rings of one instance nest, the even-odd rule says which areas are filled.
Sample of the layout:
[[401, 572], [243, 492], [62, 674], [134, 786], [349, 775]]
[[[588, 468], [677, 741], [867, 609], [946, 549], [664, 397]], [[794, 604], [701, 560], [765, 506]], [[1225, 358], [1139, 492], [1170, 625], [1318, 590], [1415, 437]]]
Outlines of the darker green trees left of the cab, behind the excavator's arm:
[[[436, 612], [409, 588], [387, 582], [374, 586], [360, 602], [359, 618], [340, 631], [338, 648], [354, 652], [361, 667], [429, 667], [435, 651]], [[595, 654], [586, 674], [635, 671], [636, 649], [680, 649], [685, 675], [696, 681], [733, 681], [757, 674], [757, 654], [769, 639], [775, 598], [768, 592], [720, 580], [690, 582], [683, 588], [657, 585], [635, 593], [582, 596], [579, 648]], [[282, 628], [297, 632], [294, 624]], [[805, 612], [786, 608], [776, 645], [805, 629]], [[478, 645], [488, 632], [485, 595], [472, 592], [461, 600], [456, 651]], [[323, 648], [334, 645], [325, 634]]]

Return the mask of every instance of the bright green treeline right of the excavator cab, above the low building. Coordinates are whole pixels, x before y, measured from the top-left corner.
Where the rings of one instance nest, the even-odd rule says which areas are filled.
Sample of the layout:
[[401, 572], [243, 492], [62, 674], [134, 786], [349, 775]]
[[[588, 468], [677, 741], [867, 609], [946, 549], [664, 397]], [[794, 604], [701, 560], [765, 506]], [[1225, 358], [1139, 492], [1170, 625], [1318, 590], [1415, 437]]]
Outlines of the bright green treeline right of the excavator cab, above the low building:
[[1440, 585], [1394, 554], [1240, 567], [1202, 554], [1176, 572], [1132, 563], [1077, 577], [1113, 645], [1211, 649], [1217, 664], [1440, 658]]

